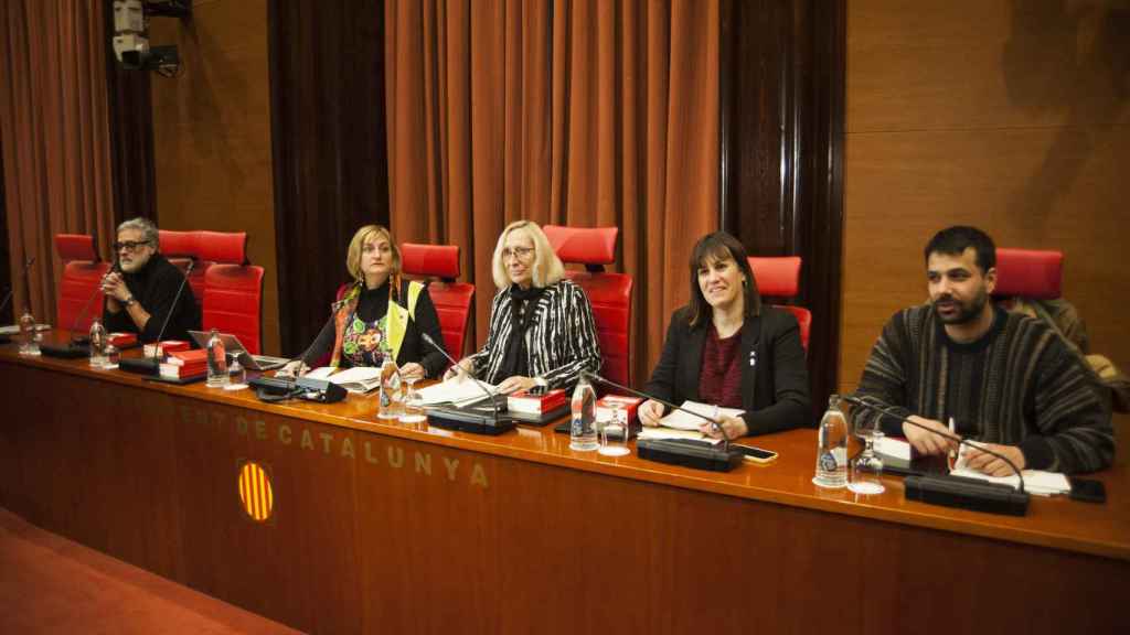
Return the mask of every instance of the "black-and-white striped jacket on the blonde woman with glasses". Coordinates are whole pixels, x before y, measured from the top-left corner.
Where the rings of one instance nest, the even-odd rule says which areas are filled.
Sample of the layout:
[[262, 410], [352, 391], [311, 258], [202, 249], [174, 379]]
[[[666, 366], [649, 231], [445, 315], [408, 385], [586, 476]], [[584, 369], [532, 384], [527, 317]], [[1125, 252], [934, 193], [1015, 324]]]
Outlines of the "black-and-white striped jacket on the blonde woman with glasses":
[[[581, 287], [563, 279], [546, 287], [534, 307], [533, 323], [525, 333], [530, 375], [542, 377], [550, 389], [572, 389], [581, 371], [599, 372], [601, 365], [592, 307]], [[471, 356], [475, 374], [497, 384], [511, 332], [510, 289], [495, 294], [490, 304], [487, 342]]]

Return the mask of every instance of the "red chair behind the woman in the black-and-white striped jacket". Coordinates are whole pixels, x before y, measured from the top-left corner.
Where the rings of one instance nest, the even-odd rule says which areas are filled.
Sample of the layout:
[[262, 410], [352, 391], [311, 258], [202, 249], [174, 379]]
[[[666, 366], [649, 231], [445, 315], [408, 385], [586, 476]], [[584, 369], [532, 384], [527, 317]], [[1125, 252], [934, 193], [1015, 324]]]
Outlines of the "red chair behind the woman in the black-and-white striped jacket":
[[616, 262], [619, 227], [542, 227], [549, 244], [563, 262], [584, 264], [584, 271], [566, 271], [589, 296], [597, 338], [603, 357], [601, 374], [614, 382], [632, 385], [632, 286], [627, 273], [605, 271]]

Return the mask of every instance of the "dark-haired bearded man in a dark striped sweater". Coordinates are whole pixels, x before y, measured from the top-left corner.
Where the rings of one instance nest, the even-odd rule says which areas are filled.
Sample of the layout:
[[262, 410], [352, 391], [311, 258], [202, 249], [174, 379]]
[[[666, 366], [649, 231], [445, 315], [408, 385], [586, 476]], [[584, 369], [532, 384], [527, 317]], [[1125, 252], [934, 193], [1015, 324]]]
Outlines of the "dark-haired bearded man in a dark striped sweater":
[[[896, 313], [863, 369], [858, 397], [869, 395], [914, 427], [883, 416], [881, 429], [905, 436], [921, 454], [956, 444], [940, 434], [980, 441], [1019, 469], [1064, 473], [1101, 470], [1114, 455], [1111, 415], [1095, 377], [1042, 322], [1008, 313], [990, 299], [997, 249], [974, 227], [942, 229], [925, 247], [930, 302]], [[855, 408], [857, 424], [873, 411]], [[992, 476], [1011, 468], [966, 445], [966, 467]]]

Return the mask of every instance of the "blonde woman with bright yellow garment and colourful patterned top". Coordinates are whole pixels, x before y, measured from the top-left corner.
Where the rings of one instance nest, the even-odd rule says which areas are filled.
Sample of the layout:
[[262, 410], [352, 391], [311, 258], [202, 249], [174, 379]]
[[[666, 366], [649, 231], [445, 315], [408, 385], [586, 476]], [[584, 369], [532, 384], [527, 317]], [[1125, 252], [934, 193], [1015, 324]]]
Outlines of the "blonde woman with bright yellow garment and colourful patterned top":
[[420, 333], [443, 342], [440, 316], [427, 287], [400, 278], [400, 249], [388, 228], [366, 225], [354, 234], [346, 255], [353, 282], [342, 286], [328, 322], [282, 374], [303, 372], [313, 360], [329, 356], [330, 366], [380, 366], [385, 355], [400, 366], [403, 377], [435, 377], [446, 366], [443, 354]]

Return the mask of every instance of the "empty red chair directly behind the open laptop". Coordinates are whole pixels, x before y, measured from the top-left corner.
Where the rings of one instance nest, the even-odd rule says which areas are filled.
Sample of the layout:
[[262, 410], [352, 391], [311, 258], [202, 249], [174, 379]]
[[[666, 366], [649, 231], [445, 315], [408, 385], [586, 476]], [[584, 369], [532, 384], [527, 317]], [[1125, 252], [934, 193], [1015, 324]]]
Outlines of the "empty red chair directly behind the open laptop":
[[247, 234], [195, 232], [198, 256], [215, 262], [205, 272], [205, 330], [240, 338], [247, 353], [262, 348], [263, 268], [247, 263]]

